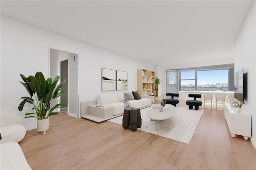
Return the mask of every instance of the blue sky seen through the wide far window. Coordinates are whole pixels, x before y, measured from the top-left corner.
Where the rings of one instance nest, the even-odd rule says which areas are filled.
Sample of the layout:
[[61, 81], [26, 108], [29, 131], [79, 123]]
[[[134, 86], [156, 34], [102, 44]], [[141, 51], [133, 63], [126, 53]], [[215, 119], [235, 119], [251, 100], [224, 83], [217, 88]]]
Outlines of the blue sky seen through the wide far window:
[[[194, 79], [194, 71], [182, 72], [182, 79]], [[198, 71], [198, 85], [206, 85], [216, 83], [228, 83], [228, 70], [207, 70]], [[194, 81], [183, 81], [182, 85], [194, 84]]]

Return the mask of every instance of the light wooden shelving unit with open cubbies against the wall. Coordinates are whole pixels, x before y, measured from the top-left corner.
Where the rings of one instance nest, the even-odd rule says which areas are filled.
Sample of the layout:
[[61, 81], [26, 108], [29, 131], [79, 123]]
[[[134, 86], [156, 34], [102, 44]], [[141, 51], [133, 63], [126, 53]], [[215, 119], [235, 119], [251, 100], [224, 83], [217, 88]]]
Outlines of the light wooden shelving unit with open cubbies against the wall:
[[137, 69], [137, 91], [140, 95], [152, 96], [155, 93], [155, 72], [146, 69]]

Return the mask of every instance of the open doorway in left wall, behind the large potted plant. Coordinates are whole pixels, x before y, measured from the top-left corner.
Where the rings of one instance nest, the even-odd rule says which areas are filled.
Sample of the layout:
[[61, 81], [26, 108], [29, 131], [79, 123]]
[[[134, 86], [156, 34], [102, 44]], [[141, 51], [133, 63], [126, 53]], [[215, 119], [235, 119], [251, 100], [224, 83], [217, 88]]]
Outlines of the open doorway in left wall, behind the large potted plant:
[[60, 111], [79, 118], [78, 54], [50, 48], [50, 77], [54, 79], [56, 75], [60, 75], [61, 91], [66, 94], [52, 101], [51, 106], [63, 103], [66, 107]]

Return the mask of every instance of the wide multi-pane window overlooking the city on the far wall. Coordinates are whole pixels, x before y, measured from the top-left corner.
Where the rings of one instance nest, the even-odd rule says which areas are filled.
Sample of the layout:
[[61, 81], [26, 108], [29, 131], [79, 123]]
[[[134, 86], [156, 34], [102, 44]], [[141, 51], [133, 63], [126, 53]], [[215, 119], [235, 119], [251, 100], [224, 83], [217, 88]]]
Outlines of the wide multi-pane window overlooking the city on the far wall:
[[233, 91], [234, 64], [179, 69], [179, 91]]

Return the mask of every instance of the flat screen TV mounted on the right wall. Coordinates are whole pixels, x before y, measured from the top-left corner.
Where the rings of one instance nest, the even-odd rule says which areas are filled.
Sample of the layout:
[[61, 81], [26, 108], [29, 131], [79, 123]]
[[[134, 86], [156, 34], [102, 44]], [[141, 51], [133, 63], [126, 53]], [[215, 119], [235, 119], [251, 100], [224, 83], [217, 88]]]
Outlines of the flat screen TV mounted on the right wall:
[[244, 101], [244, 69], [240, 69], [235, 73], [235, 99], [243, 102]]

